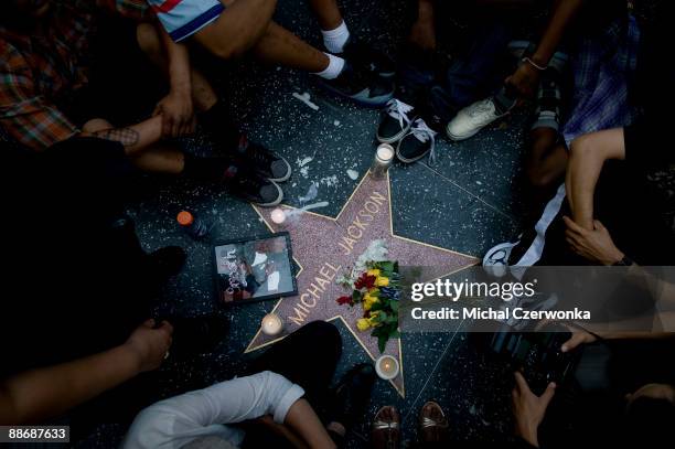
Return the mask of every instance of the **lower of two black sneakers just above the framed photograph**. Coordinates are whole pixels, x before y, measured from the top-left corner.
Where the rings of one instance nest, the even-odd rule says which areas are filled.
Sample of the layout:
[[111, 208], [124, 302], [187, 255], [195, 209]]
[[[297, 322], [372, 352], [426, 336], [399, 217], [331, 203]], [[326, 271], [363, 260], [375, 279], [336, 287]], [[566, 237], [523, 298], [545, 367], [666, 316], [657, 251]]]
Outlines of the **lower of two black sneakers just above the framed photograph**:
[[259, 206], [276, 206], [283, 200], [283, 191], [276, 182], [240, 165], [229, 165], [223, 182], [232, 194]]

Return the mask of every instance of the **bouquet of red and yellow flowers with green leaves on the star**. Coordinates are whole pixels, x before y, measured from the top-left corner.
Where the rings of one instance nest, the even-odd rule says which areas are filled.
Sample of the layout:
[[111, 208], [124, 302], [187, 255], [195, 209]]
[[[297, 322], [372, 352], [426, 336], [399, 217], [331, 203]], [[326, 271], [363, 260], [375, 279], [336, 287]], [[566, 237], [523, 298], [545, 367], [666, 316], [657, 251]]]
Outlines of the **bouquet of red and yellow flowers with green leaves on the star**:
[[377, 338], [379, 352], [384, 352], [387, 341], [398, 338], [398, 301], [400, 299], [400, 277], [398, 263], [392, 260], [365, 261], [364, 270], [352, 271], [341, 284], [352, 289], [351, 296], [338, 298], [339, 304], [355, 307], [361, 304], [363, 318], [356, 327]]

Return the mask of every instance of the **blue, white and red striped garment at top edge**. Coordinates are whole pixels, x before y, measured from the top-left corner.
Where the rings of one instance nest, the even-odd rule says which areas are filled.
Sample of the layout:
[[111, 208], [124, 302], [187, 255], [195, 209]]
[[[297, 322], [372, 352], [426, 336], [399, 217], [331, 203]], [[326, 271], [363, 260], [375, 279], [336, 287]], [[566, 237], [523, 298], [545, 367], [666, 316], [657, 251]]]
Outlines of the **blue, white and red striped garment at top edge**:
[[148, 0], [148, 3], [174, 42], [212, 23], [225, 9], [218, 0]]

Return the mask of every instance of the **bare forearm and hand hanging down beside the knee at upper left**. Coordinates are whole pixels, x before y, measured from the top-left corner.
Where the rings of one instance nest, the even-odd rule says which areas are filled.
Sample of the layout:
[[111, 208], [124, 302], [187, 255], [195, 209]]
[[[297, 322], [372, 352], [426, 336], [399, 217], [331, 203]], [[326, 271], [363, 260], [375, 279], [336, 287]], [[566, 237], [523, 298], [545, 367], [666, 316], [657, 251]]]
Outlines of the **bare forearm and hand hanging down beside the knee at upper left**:
[[160, 24], [156, 26], [169, 62], [168, 76], [171, 90], [157, 104], [152, 115], [161, 115], [164, 136], [185, 136], [194, 132], [196, 125], [192, 105], [190, 53], [184, 44], [173, 42]]

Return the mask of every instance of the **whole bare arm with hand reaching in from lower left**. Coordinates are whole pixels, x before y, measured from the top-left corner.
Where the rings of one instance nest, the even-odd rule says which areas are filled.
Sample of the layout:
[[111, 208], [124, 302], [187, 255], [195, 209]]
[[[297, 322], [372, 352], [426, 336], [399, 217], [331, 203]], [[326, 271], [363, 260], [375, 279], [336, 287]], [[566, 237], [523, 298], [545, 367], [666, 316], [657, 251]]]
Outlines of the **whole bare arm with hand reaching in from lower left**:
[[0, 381], [0, 424], [40, 423], [156, 370], [171, 345], [172, 328], [153, 325], [153, 320], [144, 322], [126, 343], [108, 351]]

